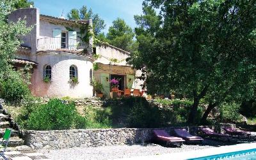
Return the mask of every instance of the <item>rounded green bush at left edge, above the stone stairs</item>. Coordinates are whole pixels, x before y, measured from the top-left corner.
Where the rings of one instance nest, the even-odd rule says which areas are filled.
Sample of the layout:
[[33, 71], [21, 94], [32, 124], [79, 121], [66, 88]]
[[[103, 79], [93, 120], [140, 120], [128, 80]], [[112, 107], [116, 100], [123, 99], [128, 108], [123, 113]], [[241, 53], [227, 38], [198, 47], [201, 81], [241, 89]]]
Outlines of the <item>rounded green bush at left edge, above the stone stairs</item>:
[[31, 96], [31, 92], [20, 76], [12, 76], [0, 80], [0, 96], [6, 101], [17, 103]]

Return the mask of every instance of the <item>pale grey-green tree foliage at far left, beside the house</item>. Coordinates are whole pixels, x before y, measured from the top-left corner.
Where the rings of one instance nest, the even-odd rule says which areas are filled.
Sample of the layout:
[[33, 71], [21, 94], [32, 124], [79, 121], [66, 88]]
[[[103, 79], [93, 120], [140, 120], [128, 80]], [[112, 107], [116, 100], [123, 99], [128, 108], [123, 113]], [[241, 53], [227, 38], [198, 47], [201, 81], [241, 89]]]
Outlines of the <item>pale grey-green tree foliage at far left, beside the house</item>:
[[18, 22], [8, 22], [8, 14], [11, 13], [17, 4], [17, 0], [3, 0], [0, 2], [0, 78], [9, 75], [12, 70], [10, 60], [15, 57], [17, 47], [20, 46], [20, 36], [24, 36], [30, 31], [26, 27], [25, 20]]

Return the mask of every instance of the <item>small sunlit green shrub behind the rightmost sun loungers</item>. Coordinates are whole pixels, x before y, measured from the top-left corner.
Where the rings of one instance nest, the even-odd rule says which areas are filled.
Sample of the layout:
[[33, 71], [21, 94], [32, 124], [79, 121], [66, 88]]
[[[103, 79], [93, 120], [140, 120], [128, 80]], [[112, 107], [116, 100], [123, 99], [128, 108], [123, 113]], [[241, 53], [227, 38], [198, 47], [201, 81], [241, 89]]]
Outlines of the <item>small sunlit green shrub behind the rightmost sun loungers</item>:
[[241, 115], [239, 113], [240, 105], [237, 103], [223, 103], [220, 106], [220, 116], [221, 122], [237, 122], [241, 120]]

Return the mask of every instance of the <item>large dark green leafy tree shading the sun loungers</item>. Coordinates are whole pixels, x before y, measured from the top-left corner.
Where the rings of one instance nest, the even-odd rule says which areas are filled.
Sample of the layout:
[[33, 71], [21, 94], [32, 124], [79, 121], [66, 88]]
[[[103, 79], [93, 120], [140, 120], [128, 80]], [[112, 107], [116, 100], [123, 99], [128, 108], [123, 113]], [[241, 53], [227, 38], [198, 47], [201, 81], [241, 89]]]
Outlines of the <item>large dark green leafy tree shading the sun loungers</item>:
[[147, 70], [147, 84], [193, 97], [189, 123], [202, 98], [220, 104], [253, 95], [255, 1], [147, 0], [135, 20], [139, 47], [129, 62]]

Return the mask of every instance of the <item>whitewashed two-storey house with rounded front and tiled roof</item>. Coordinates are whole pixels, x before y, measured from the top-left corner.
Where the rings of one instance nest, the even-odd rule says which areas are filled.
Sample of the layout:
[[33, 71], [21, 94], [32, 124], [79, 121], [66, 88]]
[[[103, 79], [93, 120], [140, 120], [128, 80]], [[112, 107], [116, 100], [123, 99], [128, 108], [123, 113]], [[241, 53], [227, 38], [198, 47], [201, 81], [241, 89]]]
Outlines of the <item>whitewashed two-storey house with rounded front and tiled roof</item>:
[[[19, 18], [33, 29], [22, 37], [13, 64], [15, 69], [33, 66], [29, 87], [35, 96], [90, 98], [94, 96], [93, 77], [103, 85], [106, 96], [112, 78], [120, 80], [120, 90], [141, 89], [143, 82], [136, 80], [140, 71], [125, 61], [129, 52], [103, 42], [93, 44], [92, 36], [86, 38], [92, 32], [92, 20], [40, 15], [38, 8], [15, 10], [8, 19], [15, 22]], [[94, 59], [94, 54], [99, 58]]]

